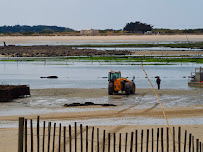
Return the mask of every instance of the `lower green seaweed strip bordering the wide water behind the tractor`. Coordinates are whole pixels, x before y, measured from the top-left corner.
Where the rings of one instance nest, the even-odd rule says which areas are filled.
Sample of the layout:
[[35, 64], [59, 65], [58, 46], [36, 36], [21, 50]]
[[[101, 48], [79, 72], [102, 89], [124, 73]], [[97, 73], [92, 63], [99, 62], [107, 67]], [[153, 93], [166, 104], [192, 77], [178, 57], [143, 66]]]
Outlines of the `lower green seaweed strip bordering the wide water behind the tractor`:
[[[18, 61], [18, 62], [49, 62], [49, 61], [61, 61], [61, 62], [153, 62], [153, 65], [169, 64], [174, 62], [195, 62], [203, 63], [202, 57], [192, 56], [94, 56], [94, 57], [52, 57], [52, 58], [1, 58], [0, 61]], [[132, 63], [131, 63], [132, 64]], [[137, 63], [133, 63], [137, 64]]]

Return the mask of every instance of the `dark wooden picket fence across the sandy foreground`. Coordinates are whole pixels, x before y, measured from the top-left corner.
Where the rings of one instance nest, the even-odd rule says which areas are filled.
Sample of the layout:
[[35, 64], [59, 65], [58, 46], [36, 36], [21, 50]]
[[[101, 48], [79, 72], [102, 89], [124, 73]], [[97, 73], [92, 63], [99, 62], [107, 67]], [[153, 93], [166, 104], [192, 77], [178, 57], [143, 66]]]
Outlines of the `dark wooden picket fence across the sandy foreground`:
[[[53, 126], [52, 126], [53, 125]], [[46, 127], [48, 126], [48, 127]], [[68, 131], [67, 131], [68, 130]], [[61, 123], [33, 121], [19, 118], [18, 152], [202, 152], [203, 143], [181, 127], [135, 130], [130, 133], [112, 133], [99, 128], [72, 127]]]

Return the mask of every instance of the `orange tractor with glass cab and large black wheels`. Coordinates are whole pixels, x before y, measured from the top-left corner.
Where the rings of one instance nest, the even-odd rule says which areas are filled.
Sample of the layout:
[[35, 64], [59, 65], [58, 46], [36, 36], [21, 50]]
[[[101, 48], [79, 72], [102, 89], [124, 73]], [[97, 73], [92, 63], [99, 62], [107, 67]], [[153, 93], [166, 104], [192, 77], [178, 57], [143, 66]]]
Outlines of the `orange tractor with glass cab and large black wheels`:
[[114, 93], [118, 93], [119, 91], [125, 92], [126, 95], [135, 93], [135, 77], [133, 76], [133, 80], [129, 81], [127, 78], [121, 77], [120, 71], [110, 71], [108, 74], [108, 94], [113, 95]]

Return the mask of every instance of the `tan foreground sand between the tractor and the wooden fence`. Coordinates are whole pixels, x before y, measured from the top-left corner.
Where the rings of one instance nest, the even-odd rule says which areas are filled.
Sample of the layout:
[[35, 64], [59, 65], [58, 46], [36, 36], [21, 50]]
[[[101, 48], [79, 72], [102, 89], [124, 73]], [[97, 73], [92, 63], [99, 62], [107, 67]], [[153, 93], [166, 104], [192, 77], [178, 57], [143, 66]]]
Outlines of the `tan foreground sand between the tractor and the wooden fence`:
[[[157, 93], [160, 97], [163, 96], [168, 96], [169, 98], [174, 97], [174, 96], [187, 96], [187, 97], [193, 97], [197, 96], [201, 93], [202, 90], [200, 89], [193, 89], [193, 90], [172, 90], [172, 89], [163, 89], [163, 90], [157, 90]], [[137, 89], [137, 92], [135, 95], [131, 96], [125, 96], [122, 94], [117, 94], [113, 96], [108, 96], [107, 95], [107, 89], [33, 89], [31, 90], [32, 96], [30, 98], [24, 98], [24, 99], [18, 99], [15, 102], [13, 102], [13, 106], [16, 106], [16, 108], [19, 106], [21, 101], [26, 101], [30, 100], [32, 98], [37, 98], [38, 100], [41, 100], [40, 97], [55, 97], [56, 99], [78, 99], [81, 98], [83, 100], [86, 99], [98, 99], [98, 98], [109, 98], [111, 100], [128, 100], [128, 98], [135, 98], [141, 99], [144, 97], [150, 97], [154, 96], [153, 90], [152, 89]], [[201, 96], [201, 95], [200, 95]], [[200, 98], [201, 100], [201, 98]], [[172, 100], [173, 101], [173, 100]], [[34, 100], [33, 100], [34, 102]], [[163, 104], [165, 100], [162, 100]], [[183, 102], [184, 103], [184, 102]], [[147, 103], [146, 103], [147, 104]], [[169, 103], [169, 105], [171, 102]], [[25, 102], [22, 105], [26, 105]], [[21, 106], [22, 106], [21, 105]], [[9, 106], [12, 106], [12, 103], [9, 103]], [[35, 105], [36, 106], [36, 105]], [[139, 136], [138, 139], [140, 139], [140, 132], [141, 130], [144, 130], [144, 132], [147, 129], [154, 129], [154, 134], [156, 135], [156, 130], [157, 128], [164, 127], [164, 132], [166, 131], [166, 122], [162, 113], [162, 110], [160, 108], [160, 105], [158, 102], [155, 102], [151, 104], [149, 107], [140, 107], [136, 108], [137, 106], [140, 106], [138, 104], [129, 104], [129, 105], [118, 105], [117, 107], [112, 107], [112, 108], [107, 108], [107, 107], [100, 107], [96, 111], [92, 111], [91, 109], [95, 109], [98, 107], [91, 106], [91, 107], [75, 107], [75, 108], [70, 108], [70, 109], [75, 109], [75, 112], [69, 112], [68, 108], [60, 107], [60, 109], [66, 109], [67, 112], [53, 112], [53, 113], [44, 113], [40, 114], [40, 119], [42, 121], [51, 121], [51, 122], [56, 122], [57, 127], [59, 122], [62, 123], [62, 126], [68, 126], [68, 124], [72, 124], [77, 121], [78, 125], [79, 123], [83, 123], [83, 125], [89, 125], [90, 131], [89, 131], [89, 138], [91, 138], [91, 129], [92, 129], [92, 124], [94, 124], [95, 130], [96, 128], [100, 129], [100, 138], [99, 141], [102, 143], [102, 133], [103, 130], [105, 129], [107, 133], [117, 133], [117, 138], [118, 138], [118, 133], [122, 133], [122, 136], [125, 136], [125, 133], [128, 132], [134, 132], [135, 129], [138, 130]], [[37, 107], [36, 107], [37, 108]], [[195, 136], [195, 139], [200, 139], [200, 141], [203, 140], [203, 134], [202, 134], [202, 129], [203, 125], [197, 125], [193, 123], [193, 120], [201, 120], [203, 116], [203, 105], [202, 102], [199, 104], [191, 104], [191, 106], [177, 106], [177, 107], [164, 107], [165, 112], [167, 115], [167, 118], [171, 122], [171, 120], [176, 120], [172, 123], [171, 127], [175, 126], [181, 126], [182, 127], [182, 140], [184, 139], [184, 131], [188, 131], [189, 133], [192, 133], [192, 135]], [[9, 108], [7, 107], [6, 110]], [[51, 109], [55, 109], [54, 107], [51, 107]], [[84, 109], [89, 109], [88, 111], [83, 111]], [[34, 119], [34, 123], [36, 123], [36, 117], [37, 114], [32, 114], [32, 115], [11, 115], [11, 116], [0, 116], [0, 122], [6, 122], [6, 121], [14, 121], [17, 122], [18, 117], [23, 116], [26, 119]], [[129, 119], [131, 122], [135, 121], [134, 123], [136, 124], [137, 119], [144, 121], [163, 121], [161, 124], [163, 125], [131, 125], [129, 124], [122, 124], [125, 120]], [[182, 122], [182, 120], [185, 120], [187, 124], [190, 125], [176, 125], [180, 124], [179, 122]], [[103, 121], [109, 122], [107, 125], [102, 125]], [[111, 121], [114, 121], [114, 124], [117, 125], [111, 125]], [[120, 122], [120, 123], [119, 123]], [[35, 125], [34, 125], [35, 127]], [[30, 130], [28, 129], [28, 132]], [[52, 128], [53, 131], [53, 128]], [[58, 128], [56, 129], [56, 134], [58, 135]], [[176, 128], [176, 132], [177, 132]], [[42, 128], [40, 130], [42, 132]], [[79, 132], [79, 127], [78, 127], [78, 132]], [[10, 152], [10, 151], [16, 151], [17, 149], [17, 139], [18, 139], [18, 129], [17, 128], [0, 128], [0, 137], [1, 137], [1, 142], [0, 142], [0, 148], [4, 152]], [[84, 137], [85, 137], [85, 127], [84, 127]], [[34, 135], [36, 135], [36, 128], [34, 128]], [[144, 133], [144, 140], [146, 139], [146, 134]], [[68, 137], [68, 134], [67, 134]], [[58, 138], [58, 137], [57, 137]], [[113, 139], [113, 137], [111, 137]], [[151, 138], [151, 134], [150, 134]], [[165, 135], [164, 135], [165, 138]], [[170, 137], [171, 138], [171, 137]], [[178, 138], [178, 136], [176, 136]], [[80, 139], [80, 134], [78, 133], [78, 143]], [[30, 138], [28, 138], [30, 141]], [[41, 138], [42, 140], [42, 138]], [[45, 139], [47, 141], [47, 137]], [[57, 139], [56, 139], [57, 140]], [[117, 139], [118, 142], [118, 139]], [[40, 141], [42, 143], [42, 141]], [[51, 139], [52, 143], [52, 139]], [[63, 143], [63, 142], [62, 142]], [[139, 142], [140, 143], [140, 142]], [[124, 145], [124, 140], [122, 141], [122, 144]], [[129, 144], [130, 144], [130, 135], [129, 135]], [[36, 145], [36, 138], [34, 138], [34, 145]], [[85, 145], [85, 141], [84, 141]], [[67, 149], [69, 147], [69, 144], [67, 142], [66, 144]], [[89, 145], [90, 146], [90, 145]], [[47, 148], [47, 146], [46, 146]], [[57, 150], [58, 148], [58, 143], [56, 143]], [[128, 147], [129, 148], [129, 147]], [[95, 149], [96, 149], [96, 143], [95, 143]], [[139, 148], [140, 149], [140, 145]], [[36, 148], [34, 149], [36, 150]], [[78, 149], [79, 150], [79, 149]], [[113, 149], [112, 149], [113, 150]], [[172, 150], [172, 148], [171, 148]]]

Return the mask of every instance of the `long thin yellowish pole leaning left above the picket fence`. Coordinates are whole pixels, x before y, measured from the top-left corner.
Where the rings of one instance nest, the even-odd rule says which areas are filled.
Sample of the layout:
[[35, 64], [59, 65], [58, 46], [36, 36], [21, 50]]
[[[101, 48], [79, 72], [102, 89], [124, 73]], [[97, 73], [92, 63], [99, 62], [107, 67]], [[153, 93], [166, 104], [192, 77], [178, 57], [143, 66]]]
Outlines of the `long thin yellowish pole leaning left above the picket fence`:
[[[161, 106], [161, 110], [162, 110], [162, 112], [163, 112], [163, 114], [164, 114], [164, 117], [165, 117], [165, 119], [166, 119], [167, 127], [169, 128], [169, 132], [170, 132], [171, 138], [173, 139], [173, 134], [172, 134], [170, 125], [169, 125], [169, 123], [168, 123], [168, 119], [167, 119], [167, 117], [166, 117], [166, 113], [165, 113], [164, 108], [163, 108], [163, 106], [162, 106], [161, 100], [159, 99], [159, 96], [158, 96], [158, 94], [156, 93], [156, 90], [154, 89], [154, 86], [153, 86], [153, 84], [151, 83], [151, 81], [150, 81], [150, 79], [149, 79], [149, 77], [148, 77], [148, 75], [147, 75], [147, 73], [146, 73], [146, 71], [145, 71], [145, 69], [144, 69], [144, 67], [143, 67], [142, 64], [141, 64], [141, 66], [142, 66], [142, 69], [143, 69], [145, 75], [147, 76], [147, 79], [148, 79], [149, 83], [150, 83], [151, 86], [152, 86], [152, 89], [154, 90], [154, 93], [156, 94], [157, 99], [159, 100], [159, 103], [160, 103], [160, 106]], [[176, 150], [176, 146], [175, 146], [175, 150]], [[176, 150], [176, 152], [177, 152], [177, 150]]]

